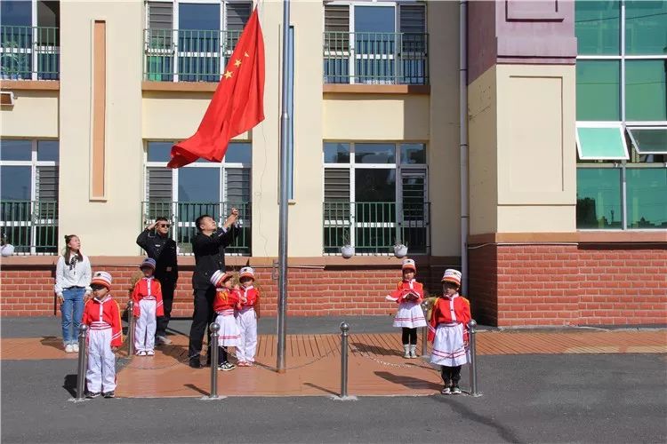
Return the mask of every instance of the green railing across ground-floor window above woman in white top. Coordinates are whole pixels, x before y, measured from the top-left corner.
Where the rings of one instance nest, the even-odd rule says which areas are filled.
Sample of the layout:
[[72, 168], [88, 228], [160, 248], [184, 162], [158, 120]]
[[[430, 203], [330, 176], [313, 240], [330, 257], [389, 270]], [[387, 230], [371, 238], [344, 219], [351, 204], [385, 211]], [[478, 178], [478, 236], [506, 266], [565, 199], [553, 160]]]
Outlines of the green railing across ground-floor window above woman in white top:
[[56, 254], [58, 202], [0, 202], [0, 230], [15, 254]]

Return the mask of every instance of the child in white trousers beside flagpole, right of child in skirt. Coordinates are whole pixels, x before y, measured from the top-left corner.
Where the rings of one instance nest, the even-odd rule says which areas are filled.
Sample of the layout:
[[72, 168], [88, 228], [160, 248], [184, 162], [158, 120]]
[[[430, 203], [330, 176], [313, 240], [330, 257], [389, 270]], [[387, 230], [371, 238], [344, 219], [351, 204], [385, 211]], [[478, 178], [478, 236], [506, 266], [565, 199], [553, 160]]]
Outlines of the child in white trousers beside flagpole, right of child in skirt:
[[257, 315], [259, 309], [260, 292], [253, 287], [254, 270], [249, 266], [241, 268], [238, 276], [241, 289], [238, 290], [240, 306], [237, 311], [238, 328], [241, 330], [241, 339], [237, 345], [237, 359], [239, 367], [252, 367], [254, 353], [257, 351]]

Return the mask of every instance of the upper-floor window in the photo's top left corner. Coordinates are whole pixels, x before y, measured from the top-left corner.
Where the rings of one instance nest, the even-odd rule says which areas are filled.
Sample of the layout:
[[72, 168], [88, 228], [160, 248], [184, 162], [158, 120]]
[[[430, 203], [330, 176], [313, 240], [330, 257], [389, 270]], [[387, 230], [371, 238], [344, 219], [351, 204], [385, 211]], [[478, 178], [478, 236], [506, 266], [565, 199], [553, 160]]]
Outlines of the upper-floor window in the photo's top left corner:
[[0, 2], [0, 76], [57, 80], [60, 64], [60, 3]]

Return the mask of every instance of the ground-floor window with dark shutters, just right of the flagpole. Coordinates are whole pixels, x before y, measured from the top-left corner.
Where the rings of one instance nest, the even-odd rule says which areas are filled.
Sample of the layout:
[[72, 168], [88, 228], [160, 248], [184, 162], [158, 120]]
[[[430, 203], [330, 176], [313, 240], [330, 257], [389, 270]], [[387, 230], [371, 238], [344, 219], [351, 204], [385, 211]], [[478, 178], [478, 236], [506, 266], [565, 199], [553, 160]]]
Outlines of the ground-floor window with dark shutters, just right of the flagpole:
[[350, 243], [358, 254], [389, 253], [403, 242], [429, 248], [426, 146], [324, 143], [325, 254]]

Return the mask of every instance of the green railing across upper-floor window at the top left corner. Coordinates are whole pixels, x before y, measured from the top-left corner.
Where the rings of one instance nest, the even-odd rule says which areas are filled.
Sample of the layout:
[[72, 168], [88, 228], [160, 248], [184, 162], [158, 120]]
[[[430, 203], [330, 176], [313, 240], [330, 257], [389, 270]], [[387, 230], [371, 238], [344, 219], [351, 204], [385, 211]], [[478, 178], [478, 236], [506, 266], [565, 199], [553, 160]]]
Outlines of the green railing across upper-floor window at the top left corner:
[[59, 28], [0, 27], [0, 77], [4, 80], [58, 80]]

